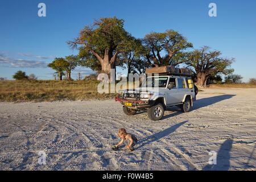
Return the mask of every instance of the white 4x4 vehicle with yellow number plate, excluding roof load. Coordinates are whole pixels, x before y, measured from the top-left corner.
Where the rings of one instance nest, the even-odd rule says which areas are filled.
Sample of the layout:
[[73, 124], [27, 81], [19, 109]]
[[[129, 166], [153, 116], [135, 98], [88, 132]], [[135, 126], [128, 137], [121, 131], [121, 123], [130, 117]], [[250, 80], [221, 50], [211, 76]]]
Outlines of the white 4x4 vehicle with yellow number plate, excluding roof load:
[[152, 76], [147, 77], [135, 90], [119, 90], [115, 101], [121, 102], [126, 115], [147, 110], [148, 117], [158, 121], [170, 106], [179, 106], [183, 112], [188, 112], [196, 100], [196, 94], [197, 88], [190, 77]]

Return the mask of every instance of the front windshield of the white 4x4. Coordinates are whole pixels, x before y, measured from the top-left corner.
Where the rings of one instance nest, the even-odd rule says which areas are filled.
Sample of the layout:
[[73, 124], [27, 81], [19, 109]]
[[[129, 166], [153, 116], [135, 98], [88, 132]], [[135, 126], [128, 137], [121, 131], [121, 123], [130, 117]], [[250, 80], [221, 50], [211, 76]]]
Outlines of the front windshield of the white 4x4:
[[141, 87], [166, 88], [168, 77], [147, 77]]

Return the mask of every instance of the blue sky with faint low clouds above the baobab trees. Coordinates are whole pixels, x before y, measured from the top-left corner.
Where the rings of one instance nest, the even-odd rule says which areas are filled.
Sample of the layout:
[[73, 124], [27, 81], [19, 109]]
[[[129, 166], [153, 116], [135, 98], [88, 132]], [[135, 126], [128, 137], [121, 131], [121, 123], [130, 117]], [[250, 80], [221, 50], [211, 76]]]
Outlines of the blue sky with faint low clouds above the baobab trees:
[[[46, 3], [46, 17], [38, 16], [38, 4]], [[217, 5], [217, 17], [208, 15], [209, 3]], [[0, 77], [14, 72], [35, 73], [52, 79], [46, 64], [54, 57], [76, 54], [67, 45], [82, 27], [95, 19], [117, 16], [133, 36], [143, 38], [151, 31], [179, 31], [195, 48], [209, 46], [234, 57], [235, 73], [243, 81], [256, 77], [256, 1], [80, 1], [80, 0], [5, 0], [0, 2]], [[77, 68], [83, 75], [88, 68]], [[118, 72], [122, 72], [118, 69]], [[126, 71], [123, 71], [126, 72]]]

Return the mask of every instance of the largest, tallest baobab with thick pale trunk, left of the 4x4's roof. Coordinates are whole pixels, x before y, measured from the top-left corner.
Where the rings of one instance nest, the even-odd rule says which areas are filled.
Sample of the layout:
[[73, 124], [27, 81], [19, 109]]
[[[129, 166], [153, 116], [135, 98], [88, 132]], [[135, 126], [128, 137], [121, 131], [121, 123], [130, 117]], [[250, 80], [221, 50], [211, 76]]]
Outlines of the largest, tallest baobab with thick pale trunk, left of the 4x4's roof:
[[79, 49], [80, 65], [100, 72], [102, 64], [122, 65], [119, 53], [125, 52], [133, 37], [123, 28], [123, 20], [101, 18], [93, 26], [86, 26], [79, 38], [69, 41], [72, 48]]

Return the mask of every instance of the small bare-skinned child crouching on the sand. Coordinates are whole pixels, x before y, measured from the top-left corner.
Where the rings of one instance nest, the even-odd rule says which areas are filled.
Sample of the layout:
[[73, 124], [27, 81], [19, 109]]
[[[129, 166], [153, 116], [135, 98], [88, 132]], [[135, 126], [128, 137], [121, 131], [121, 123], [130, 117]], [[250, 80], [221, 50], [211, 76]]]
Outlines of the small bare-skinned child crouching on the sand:
[[[126, 133], [126, 130], [125, 129], [119, 129], [118, 130], [118, 134], [117, 134], [118, 137], [121, 138], [121, 141], [116, 144], [115, 146], [112, 147], [113, 150], [118, 150], [119, 146], [125, 141], [127, 140], [128, 144], [126, 146], [127, 149], [133, 151], [134, 150], [134, 145], [138, 142], [138, 139], [130, 134], [130, 133]], [[129, 143], [130, 141], [130, 143]]]

